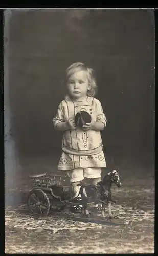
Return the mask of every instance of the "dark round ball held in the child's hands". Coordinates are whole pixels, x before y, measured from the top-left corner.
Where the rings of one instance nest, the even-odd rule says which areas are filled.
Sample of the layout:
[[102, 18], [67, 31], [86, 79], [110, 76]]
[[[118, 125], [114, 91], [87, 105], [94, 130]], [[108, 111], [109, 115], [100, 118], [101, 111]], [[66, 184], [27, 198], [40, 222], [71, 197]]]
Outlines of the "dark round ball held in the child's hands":
[[86, 123], [91, 123], [91, 115], [86, 111], [79, 111], [75, 116], [75, 123], [82, 128]]

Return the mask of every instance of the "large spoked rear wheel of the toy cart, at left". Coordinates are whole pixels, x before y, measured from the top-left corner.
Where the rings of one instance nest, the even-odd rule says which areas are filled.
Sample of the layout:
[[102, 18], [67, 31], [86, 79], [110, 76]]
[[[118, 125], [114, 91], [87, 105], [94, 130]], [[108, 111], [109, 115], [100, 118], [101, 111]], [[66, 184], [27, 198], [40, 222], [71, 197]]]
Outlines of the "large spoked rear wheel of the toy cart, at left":
[[28, 208], [34, 216], [47, 216], [50, 210], [50, 200], [41, 189], [33, 189], [28, 195]]

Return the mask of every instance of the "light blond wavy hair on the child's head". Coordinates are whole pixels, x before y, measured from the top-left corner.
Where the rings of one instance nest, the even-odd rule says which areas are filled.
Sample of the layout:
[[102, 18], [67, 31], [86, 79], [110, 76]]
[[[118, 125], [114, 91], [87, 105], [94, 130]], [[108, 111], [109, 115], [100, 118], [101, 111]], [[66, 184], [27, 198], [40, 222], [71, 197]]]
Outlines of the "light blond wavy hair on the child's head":
[[87, 73], [87, 78], [89, 82], [89, 89], [87, 91], [87, 96], [94, 97], [97, 93], [97, 84], [96, 84], [96, 79], [94, 77], [94, 70], [91, 68], [86, 67], [83, 63], [81, 62], [75, 62], [71, 64], [67, 69], [66, 69], [66, 80], [75, 72], [77, 71], [85, 71]]

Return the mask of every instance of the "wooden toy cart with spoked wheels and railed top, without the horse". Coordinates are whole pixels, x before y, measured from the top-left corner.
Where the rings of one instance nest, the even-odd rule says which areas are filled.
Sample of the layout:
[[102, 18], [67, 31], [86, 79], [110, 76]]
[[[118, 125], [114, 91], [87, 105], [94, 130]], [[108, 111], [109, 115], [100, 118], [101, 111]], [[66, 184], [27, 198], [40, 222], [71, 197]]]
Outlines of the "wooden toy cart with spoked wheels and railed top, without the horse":
[[[47, 175], [46, 173], [31, 175], [34, 186], [28, 195], [28, 209], [34, 216], [47, 216], [49, 211], [60, 212], [69, 205], [70, 210], [76, 212], [82, 208], [81, 199], [74, 201], [70, 197], [69, 190], [61, 184], [60, 175]], [[56, 180], [58, 178], [58, 183]]]

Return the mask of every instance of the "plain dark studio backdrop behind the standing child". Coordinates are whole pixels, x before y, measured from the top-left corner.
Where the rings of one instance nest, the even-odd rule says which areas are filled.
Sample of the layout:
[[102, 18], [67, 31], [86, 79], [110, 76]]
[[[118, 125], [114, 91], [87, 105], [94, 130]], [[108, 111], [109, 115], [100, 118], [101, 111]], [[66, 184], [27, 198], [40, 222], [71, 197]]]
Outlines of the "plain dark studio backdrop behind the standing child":
[[60, 156], [62, 134], [52, 118], [64, 97], [65, 69], [73, 62], [96, 72], [96, 97], [108, 120], [105, 154], [153, 163], [153, 9], [12, 11], [9, 103], [19, 157]]

